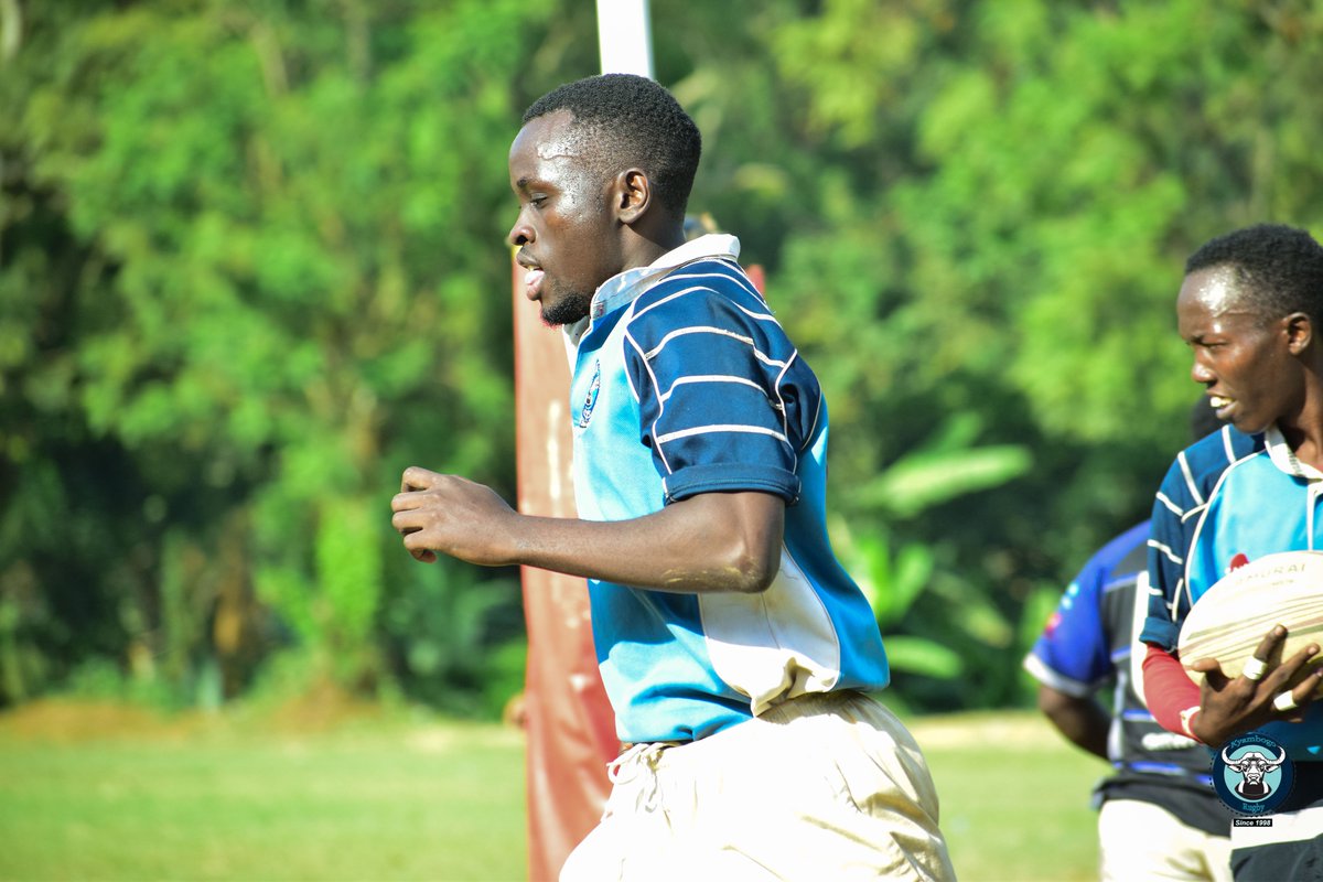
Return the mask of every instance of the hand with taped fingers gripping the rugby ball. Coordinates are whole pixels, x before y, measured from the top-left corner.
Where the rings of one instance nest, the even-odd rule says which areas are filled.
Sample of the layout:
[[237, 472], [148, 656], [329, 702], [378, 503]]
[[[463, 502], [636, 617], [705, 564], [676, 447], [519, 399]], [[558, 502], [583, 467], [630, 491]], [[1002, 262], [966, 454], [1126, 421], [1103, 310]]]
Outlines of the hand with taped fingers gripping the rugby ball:
[[[1275, 625], [1254, 649], [1254, 659], [1261, 662], [1273, 659], [1285, 640], [1286, 628]], [[1323, 684], [1323, 668], [1299, 676], [1318, 652], [1318, 644], [1311, 643], [1275, 668], [1265, 668], [1257, 680], [1244, 673], [1228, 677], [1216, 659], [1199, 659], [1191, 670], [1203, 673], [1204, 682], [1191, 731], [1205, 744], [1217, 746], [1270, 722], [1301, 721]]]

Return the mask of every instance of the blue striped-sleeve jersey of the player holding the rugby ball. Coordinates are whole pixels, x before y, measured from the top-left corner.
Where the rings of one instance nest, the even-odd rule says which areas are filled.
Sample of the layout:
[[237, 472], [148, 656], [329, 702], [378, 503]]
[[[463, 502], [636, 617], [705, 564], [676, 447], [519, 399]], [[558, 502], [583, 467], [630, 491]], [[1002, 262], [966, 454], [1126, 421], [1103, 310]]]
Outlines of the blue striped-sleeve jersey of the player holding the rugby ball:
[[[1225, 426], [1187, 447], [1154, 504], [1140, 640], [1175, 649], [1189, 607], [1236, 566], [1275, 551], [1323, 550], [1320, 495], [1323, 475], [1295, 463], [1275, 427], [1249, 436]], [[1259, 731], [1293, 759], [1323, 759], [1320, 703], [1301, 723]]]

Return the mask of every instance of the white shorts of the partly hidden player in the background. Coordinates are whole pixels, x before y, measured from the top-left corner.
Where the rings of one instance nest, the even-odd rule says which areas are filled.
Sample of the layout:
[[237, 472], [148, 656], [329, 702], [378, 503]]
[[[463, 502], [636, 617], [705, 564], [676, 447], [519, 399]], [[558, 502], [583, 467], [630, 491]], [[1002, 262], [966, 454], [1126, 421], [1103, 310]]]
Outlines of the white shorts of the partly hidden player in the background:
[[[1230, 832], [1230, 821], [1226, 822]], [[1103, 882], [1230, 882], [1232, 841], [1183, 824], [1152, 803], [1109, 799], [1098, 812]]]

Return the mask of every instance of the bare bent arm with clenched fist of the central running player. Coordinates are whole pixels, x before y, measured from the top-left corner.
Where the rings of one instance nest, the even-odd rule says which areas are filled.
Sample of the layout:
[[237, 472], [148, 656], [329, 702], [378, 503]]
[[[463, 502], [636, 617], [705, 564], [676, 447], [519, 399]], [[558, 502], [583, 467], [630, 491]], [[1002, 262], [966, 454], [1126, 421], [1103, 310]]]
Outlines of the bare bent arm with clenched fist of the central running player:
[[762, 591], [781, 562], [785, 502], [769, 493], [703, 493], [628, 521], [520, 514], [491, 488], [413, 467], [392, 525], [421, 561], [536, 566], [685, 594]]

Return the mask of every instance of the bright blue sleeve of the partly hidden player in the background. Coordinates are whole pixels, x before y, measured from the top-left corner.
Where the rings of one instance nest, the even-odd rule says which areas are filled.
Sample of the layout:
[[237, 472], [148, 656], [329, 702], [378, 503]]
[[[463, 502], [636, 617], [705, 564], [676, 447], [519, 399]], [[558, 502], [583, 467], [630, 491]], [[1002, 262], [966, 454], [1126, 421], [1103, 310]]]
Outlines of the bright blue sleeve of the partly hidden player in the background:
[[1113, 676], [1102, 621], [1110, 569], [1094, 555], [1070, 582], [1024, 660], [1035, 680], [1068, 696], [1093, 694]]

